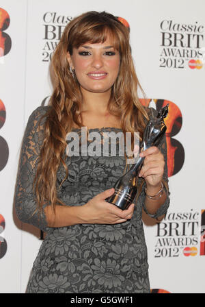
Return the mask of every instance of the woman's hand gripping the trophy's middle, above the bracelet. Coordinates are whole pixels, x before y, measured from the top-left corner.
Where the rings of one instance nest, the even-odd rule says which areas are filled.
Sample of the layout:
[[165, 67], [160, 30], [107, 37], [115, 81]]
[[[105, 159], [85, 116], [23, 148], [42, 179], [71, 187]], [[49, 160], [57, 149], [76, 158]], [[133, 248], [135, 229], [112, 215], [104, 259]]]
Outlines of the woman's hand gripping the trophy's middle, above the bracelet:
[[143, 177], [149, 188], [161, 185], [163, 179], [165, 160], [158, 147], [152, 146], [140, 153], [144, 157], [139, 177]]

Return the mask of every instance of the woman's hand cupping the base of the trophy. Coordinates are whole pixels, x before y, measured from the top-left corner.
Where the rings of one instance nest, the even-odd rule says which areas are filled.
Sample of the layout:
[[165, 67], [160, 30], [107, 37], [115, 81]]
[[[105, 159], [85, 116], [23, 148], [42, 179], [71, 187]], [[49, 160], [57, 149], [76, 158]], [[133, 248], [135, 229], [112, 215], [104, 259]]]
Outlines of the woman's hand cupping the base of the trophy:
[[81, 206], [81, 219], [88, 224], [118, 224], [131, 219], [135, 204], [128, 209], [122, 210], [105, 199], [114, 193], [114, 188], [99, 193], [87, 204]]

